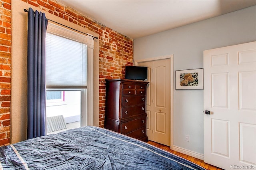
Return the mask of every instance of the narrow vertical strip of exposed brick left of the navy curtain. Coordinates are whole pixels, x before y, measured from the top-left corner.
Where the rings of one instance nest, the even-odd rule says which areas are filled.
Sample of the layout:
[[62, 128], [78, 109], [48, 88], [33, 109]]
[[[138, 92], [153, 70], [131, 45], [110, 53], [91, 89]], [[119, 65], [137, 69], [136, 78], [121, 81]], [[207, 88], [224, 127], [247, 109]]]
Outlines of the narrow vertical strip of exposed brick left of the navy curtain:
[[0, 146], [10, 142], [11, 2], [0, 0]]

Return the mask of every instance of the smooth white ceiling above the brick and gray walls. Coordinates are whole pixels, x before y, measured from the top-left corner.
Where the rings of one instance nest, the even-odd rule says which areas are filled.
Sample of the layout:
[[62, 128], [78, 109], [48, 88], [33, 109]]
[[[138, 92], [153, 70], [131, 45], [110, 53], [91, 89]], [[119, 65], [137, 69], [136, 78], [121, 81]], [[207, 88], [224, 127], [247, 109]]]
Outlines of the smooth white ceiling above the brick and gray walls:
[[256, 0], [58, 0], [58, 2], [132, 39], [256, 5]]

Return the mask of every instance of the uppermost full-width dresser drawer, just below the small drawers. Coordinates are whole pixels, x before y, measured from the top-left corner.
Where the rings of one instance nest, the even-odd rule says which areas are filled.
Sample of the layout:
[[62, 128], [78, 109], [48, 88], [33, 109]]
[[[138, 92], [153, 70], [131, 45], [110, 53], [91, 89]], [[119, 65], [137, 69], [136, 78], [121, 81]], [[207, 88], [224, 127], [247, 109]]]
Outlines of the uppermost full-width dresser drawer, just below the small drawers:
[[146, 96], [122, 96], [122, 107], [144, 104]]

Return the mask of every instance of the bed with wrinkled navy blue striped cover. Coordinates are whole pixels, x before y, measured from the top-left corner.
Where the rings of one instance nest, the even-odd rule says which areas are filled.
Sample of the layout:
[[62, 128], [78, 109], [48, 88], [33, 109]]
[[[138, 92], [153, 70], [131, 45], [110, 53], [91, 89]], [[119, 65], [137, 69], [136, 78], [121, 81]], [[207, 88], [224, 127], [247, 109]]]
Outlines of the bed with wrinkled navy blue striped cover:
[[99, 127], [0, 147], [0, 170], [205, 170], [184, 158]]

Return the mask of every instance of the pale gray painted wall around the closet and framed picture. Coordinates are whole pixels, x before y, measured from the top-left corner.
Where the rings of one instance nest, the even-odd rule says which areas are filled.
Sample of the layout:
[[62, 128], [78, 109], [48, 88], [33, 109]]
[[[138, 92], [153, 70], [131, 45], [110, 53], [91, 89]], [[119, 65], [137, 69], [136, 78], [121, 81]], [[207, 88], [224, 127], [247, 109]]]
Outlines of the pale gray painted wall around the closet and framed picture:
[[[134, 61], [173, 54], [175, 74], [203, 68], [204, 50], [253, 41], [256, 6], [135, 39]], [[203, 111], [203, 90], [175, 90], [174, 83], [174, 146], [204, 154]]]

